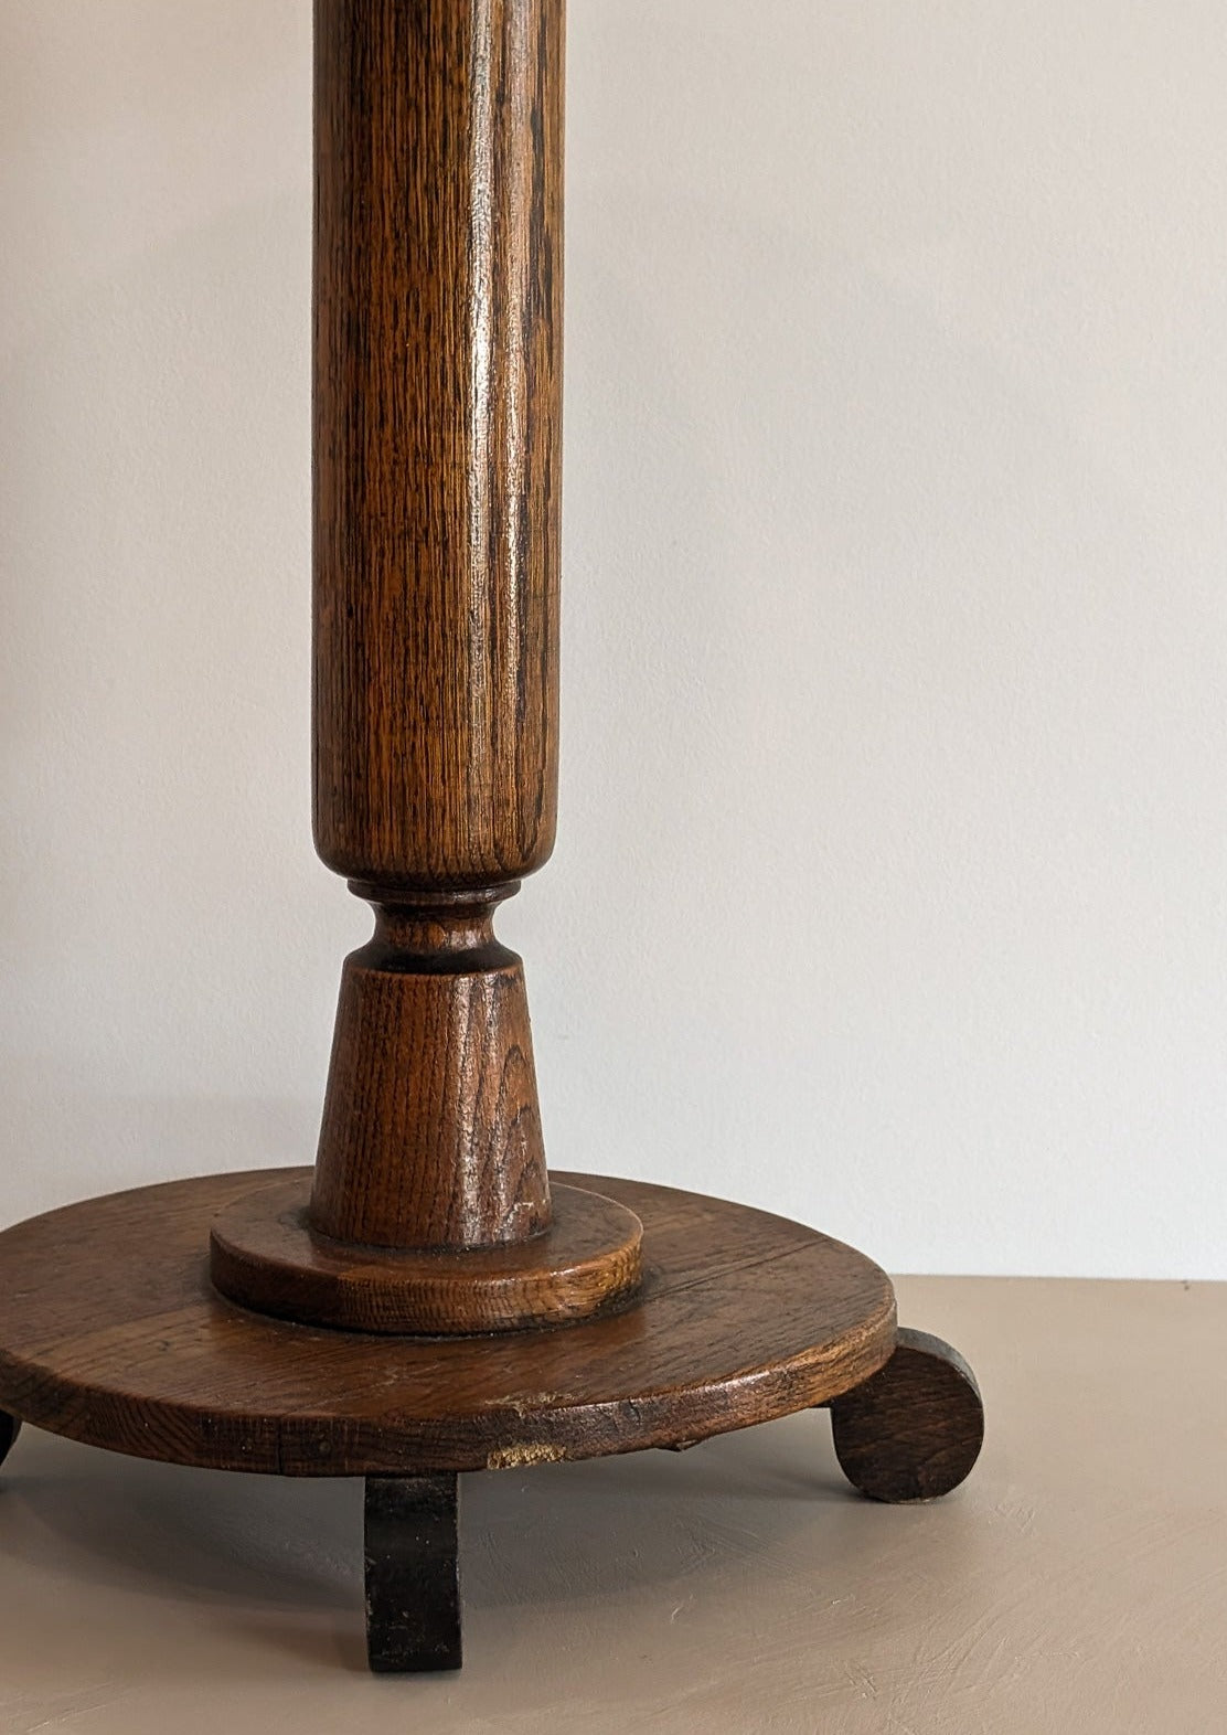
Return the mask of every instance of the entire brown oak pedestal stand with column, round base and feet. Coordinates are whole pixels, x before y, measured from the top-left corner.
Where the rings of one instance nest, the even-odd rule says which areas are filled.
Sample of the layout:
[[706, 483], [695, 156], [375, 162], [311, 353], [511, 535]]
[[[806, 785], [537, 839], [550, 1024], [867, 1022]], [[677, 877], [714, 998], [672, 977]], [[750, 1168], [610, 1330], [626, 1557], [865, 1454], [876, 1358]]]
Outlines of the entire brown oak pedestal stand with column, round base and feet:
[[562, 0], [316, 0], [314, 810], [375, 907], [314, 1169], [0, 1234], [19, 1419], [366, 1478], [370, 1660], [460, 1662], [456, 1476], [830, 1405], [850, 1480], [972, 1468], [887, 1277], [745, 1206], [555, 1175], [496, 904], [554, 843]]

